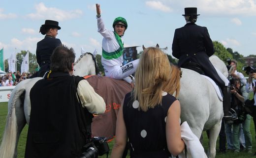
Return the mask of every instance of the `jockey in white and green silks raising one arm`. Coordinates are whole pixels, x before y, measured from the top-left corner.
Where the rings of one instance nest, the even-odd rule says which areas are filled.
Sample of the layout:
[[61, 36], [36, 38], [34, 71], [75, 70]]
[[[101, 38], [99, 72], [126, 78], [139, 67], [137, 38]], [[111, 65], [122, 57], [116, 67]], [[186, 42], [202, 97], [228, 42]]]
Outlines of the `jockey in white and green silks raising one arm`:
[[101, 63], [105, 76], [113, 79], [124, 79], [131, 83], [130, 75], [135, 73], [139, 60], [134, 60], [123, 65], [124, 42], [122, 37], [127, 29], [125, 18], [118, 17], [113, 22], [114, 31], [107, 30], [100, 14], [100, 5], [96, 4], [96, 19], [98, 32], [103, 36]]

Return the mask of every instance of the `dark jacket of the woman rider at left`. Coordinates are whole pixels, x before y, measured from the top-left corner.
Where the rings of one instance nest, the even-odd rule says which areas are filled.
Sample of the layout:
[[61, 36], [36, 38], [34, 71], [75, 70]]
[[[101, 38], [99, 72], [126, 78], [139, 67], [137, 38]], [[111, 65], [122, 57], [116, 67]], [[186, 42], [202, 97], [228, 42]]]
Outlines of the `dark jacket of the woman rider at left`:
[[36, 46], [36, 61], [40, 66], [40, 71], [38, 77], [42, 77], [46, 71], [50, 70], [50, 58], [53, 50], [62, 44], [61, 40], [58, 38], [53, 38], [46, 35], [44, 39], [37, 42]]

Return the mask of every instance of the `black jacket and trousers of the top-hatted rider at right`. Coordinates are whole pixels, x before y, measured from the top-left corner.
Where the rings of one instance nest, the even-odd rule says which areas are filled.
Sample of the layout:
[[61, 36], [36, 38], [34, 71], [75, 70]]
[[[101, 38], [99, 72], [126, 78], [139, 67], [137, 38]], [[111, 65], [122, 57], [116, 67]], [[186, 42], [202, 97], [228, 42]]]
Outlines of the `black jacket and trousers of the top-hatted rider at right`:
[[183, 67], [187, 62], [197, 63], [202, 67], [206, 76], [224, 87], [224, 81], [209, 60], [213, 54], [213, 42], [206, 27], [188, 23], [175, 30], [172, 55], [179, 59], [178, 66]]

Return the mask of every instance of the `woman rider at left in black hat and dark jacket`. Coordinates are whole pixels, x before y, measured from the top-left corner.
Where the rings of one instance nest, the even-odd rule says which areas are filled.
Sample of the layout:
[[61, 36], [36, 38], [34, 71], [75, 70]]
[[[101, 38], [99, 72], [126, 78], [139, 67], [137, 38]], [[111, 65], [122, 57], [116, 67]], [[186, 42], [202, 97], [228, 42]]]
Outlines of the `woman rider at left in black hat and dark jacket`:
[[40, 70], [30, 78], [43, 77], [50, 70], [50, 57], [53, 50], [62, 45], [61, 40], [56, 38], [59, 29], [61, 29], [59, 22], [53, 20], [45, 20], [45, 23], [40, 27], [39, 32], [42, 35], [46, 34], [44, 39], [39, 41], [36, 46], [36, 61]]

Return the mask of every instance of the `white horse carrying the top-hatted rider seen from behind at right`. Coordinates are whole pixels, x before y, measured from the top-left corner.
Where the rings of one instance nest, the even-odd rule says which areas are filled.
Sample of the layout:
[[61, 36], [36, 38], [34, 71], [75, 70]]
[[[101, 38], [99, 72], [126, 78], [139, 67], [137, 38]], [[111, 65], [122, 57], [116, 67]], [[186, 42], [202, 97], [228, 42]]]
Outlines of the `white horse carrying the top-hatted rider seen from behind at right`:
[[[209, 59], [225, 77], [228, 76], [227, 68], [219, 57], [213, 55]], [[189, 69], [182, 68], [181, 71], [178, 97], [181, 104], [181, 122], [187, 121], [198, 138], [203, 131], [209, 130], [207, 155], [208, 158], [215, 158], [216, 142], [224, 115], [223, 102], [208, 79]]]

